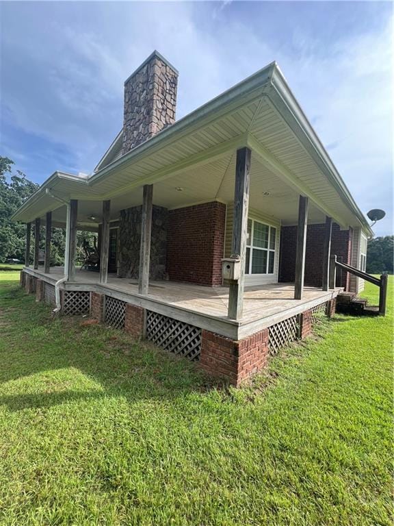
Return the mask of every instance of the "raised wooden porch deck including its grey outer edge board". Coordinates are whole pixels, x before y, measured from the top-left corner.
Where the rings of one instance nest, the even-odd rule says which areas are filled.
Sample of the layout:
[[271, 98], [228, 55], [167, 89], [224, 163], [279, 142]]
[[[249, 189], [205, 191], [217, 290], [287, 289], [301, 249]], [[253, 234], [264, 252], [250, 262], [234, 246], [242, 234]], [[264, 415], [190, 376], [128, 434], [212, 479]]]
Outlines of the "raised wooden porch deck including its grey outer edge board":
[[[43, 266], [25, 272], [48, 284], [64, 277], [64, 268], [55, 266], [46, 273]], [[99, 292], [139, 307], [153, 309], [163, 315], [195, 323], [207, 330], [218, 331], [229, 338], [246, 338], [250, 334], [270, 327], [291, 316], [314, 308], [337, 297], [341, 288], [329, 291], [304, 286], [302, 299], [294, 299], [293, 283], [246, 286], [244, 289], [244, 312], [238, 320], [228, 318], [229, 288], [227, 286], [199, 286], [176, 281], [150, 281], [148, 292], [138, 292], [138, 280], [119, 278], [115, 273], [107, 275], [107, 283], [101, 284], [99, 273], [78, 269], [74, 281], [62, 284], [65, 291]]]

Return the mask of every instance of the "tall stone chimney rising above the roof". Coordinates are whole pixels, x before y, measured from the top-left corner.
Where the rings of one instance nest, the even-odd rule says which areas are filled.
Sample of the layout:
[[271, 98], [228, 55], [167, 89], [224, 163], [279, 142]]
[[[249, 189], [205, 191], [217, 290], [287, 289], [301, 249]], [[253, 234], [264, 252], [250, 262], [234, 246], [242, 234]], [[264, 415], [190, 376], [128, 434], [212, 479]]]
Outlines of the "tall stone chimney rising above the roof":
[[175, 122], [178, 71], [153, 53], [124, 82], [122, 153]]

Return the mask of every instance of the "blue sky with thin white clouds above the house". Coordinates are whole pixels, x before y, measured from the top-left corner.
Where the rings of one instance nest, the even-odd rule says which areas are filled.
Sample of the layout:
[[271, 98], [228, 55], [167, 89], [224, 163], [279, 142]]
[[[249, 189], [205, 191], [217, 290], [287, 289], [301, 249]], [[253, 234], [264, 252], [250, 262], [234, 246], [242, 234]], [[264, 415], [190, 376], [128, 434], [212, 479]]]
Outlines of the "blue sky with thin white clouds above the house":
[[0, 155], [41, 183], [90, 173], [122, 126], [123, 82], [153, 49], [177, 117], [276, 60], [363, 212], [393, 233], [389, 2], [1, 3]]

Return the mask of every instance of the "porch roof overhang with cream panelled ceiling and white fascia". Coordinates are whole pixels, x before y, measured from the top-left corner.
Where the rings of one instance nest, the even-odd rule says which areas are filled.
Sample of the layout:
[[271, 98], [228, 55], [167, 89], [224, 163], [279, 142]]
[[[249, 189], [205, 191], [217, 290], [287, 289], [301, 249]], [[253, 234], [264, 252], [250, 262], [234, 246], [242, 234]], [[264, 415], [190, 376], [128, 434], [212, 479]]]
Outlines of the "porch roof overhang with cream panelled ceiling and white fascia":
[[[86, 203], [79, 226], [94, 228], [89, 215], [100, 214], [100, 201], [111, 199], [117, 214], [142, 202], [144, 184], [155, 184], [154, 202], [166, 208], [213, 199], [230, 202], [234, 153], [244, 146], [253, 152], [254, 208], [271, 213], [271, 206], [284, 223], [293, 224], [294, 197], [302, 194], [314, 205], [313, 222], [328, 215], [342, 227], [373, 234], [275, 62], [129, 153], [112, 160], [105, 155], [92, 175], [53, 173], [12, 218], [28, 223], [56, 210], [53, 224], [61, 225], [64, 202], [78, 199]], [[261, 198], [265, 188], [272, 189], [271, 205]]]

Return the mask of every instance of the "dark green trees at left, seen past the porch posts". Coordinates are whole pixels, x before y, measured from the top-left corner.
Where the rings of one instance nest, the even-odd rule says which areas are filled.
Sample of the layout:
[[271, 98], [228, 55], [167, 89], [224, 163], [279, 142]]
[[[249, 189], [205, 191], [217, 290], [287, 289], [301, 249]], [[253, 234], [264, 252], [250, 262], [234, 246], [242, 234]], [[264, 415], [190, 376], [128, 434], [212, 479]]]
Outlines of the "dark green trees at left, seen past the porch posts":
[[[11, 216], [23, 205], [39, 185], [29, 181], [26, 175], [17, 170], [12, 173], [14, 161], [0, 156], [0, 262], [16, 258], [25, 262], [26, 225], [11, 221]], [[33, 229], [32, 229], [33, 230]], [[77, 232], [77, 260], [83, 260], [83, 242], [93, 246], [92, 232]], [[52, 229], [51, 266], [64, 264], [65, 235], [64, 229]], [[45, 227], [40, 228], [40, 250], [45, 249]], [[30, 262], [32, 261], [33, 243], [31, 244]]]

